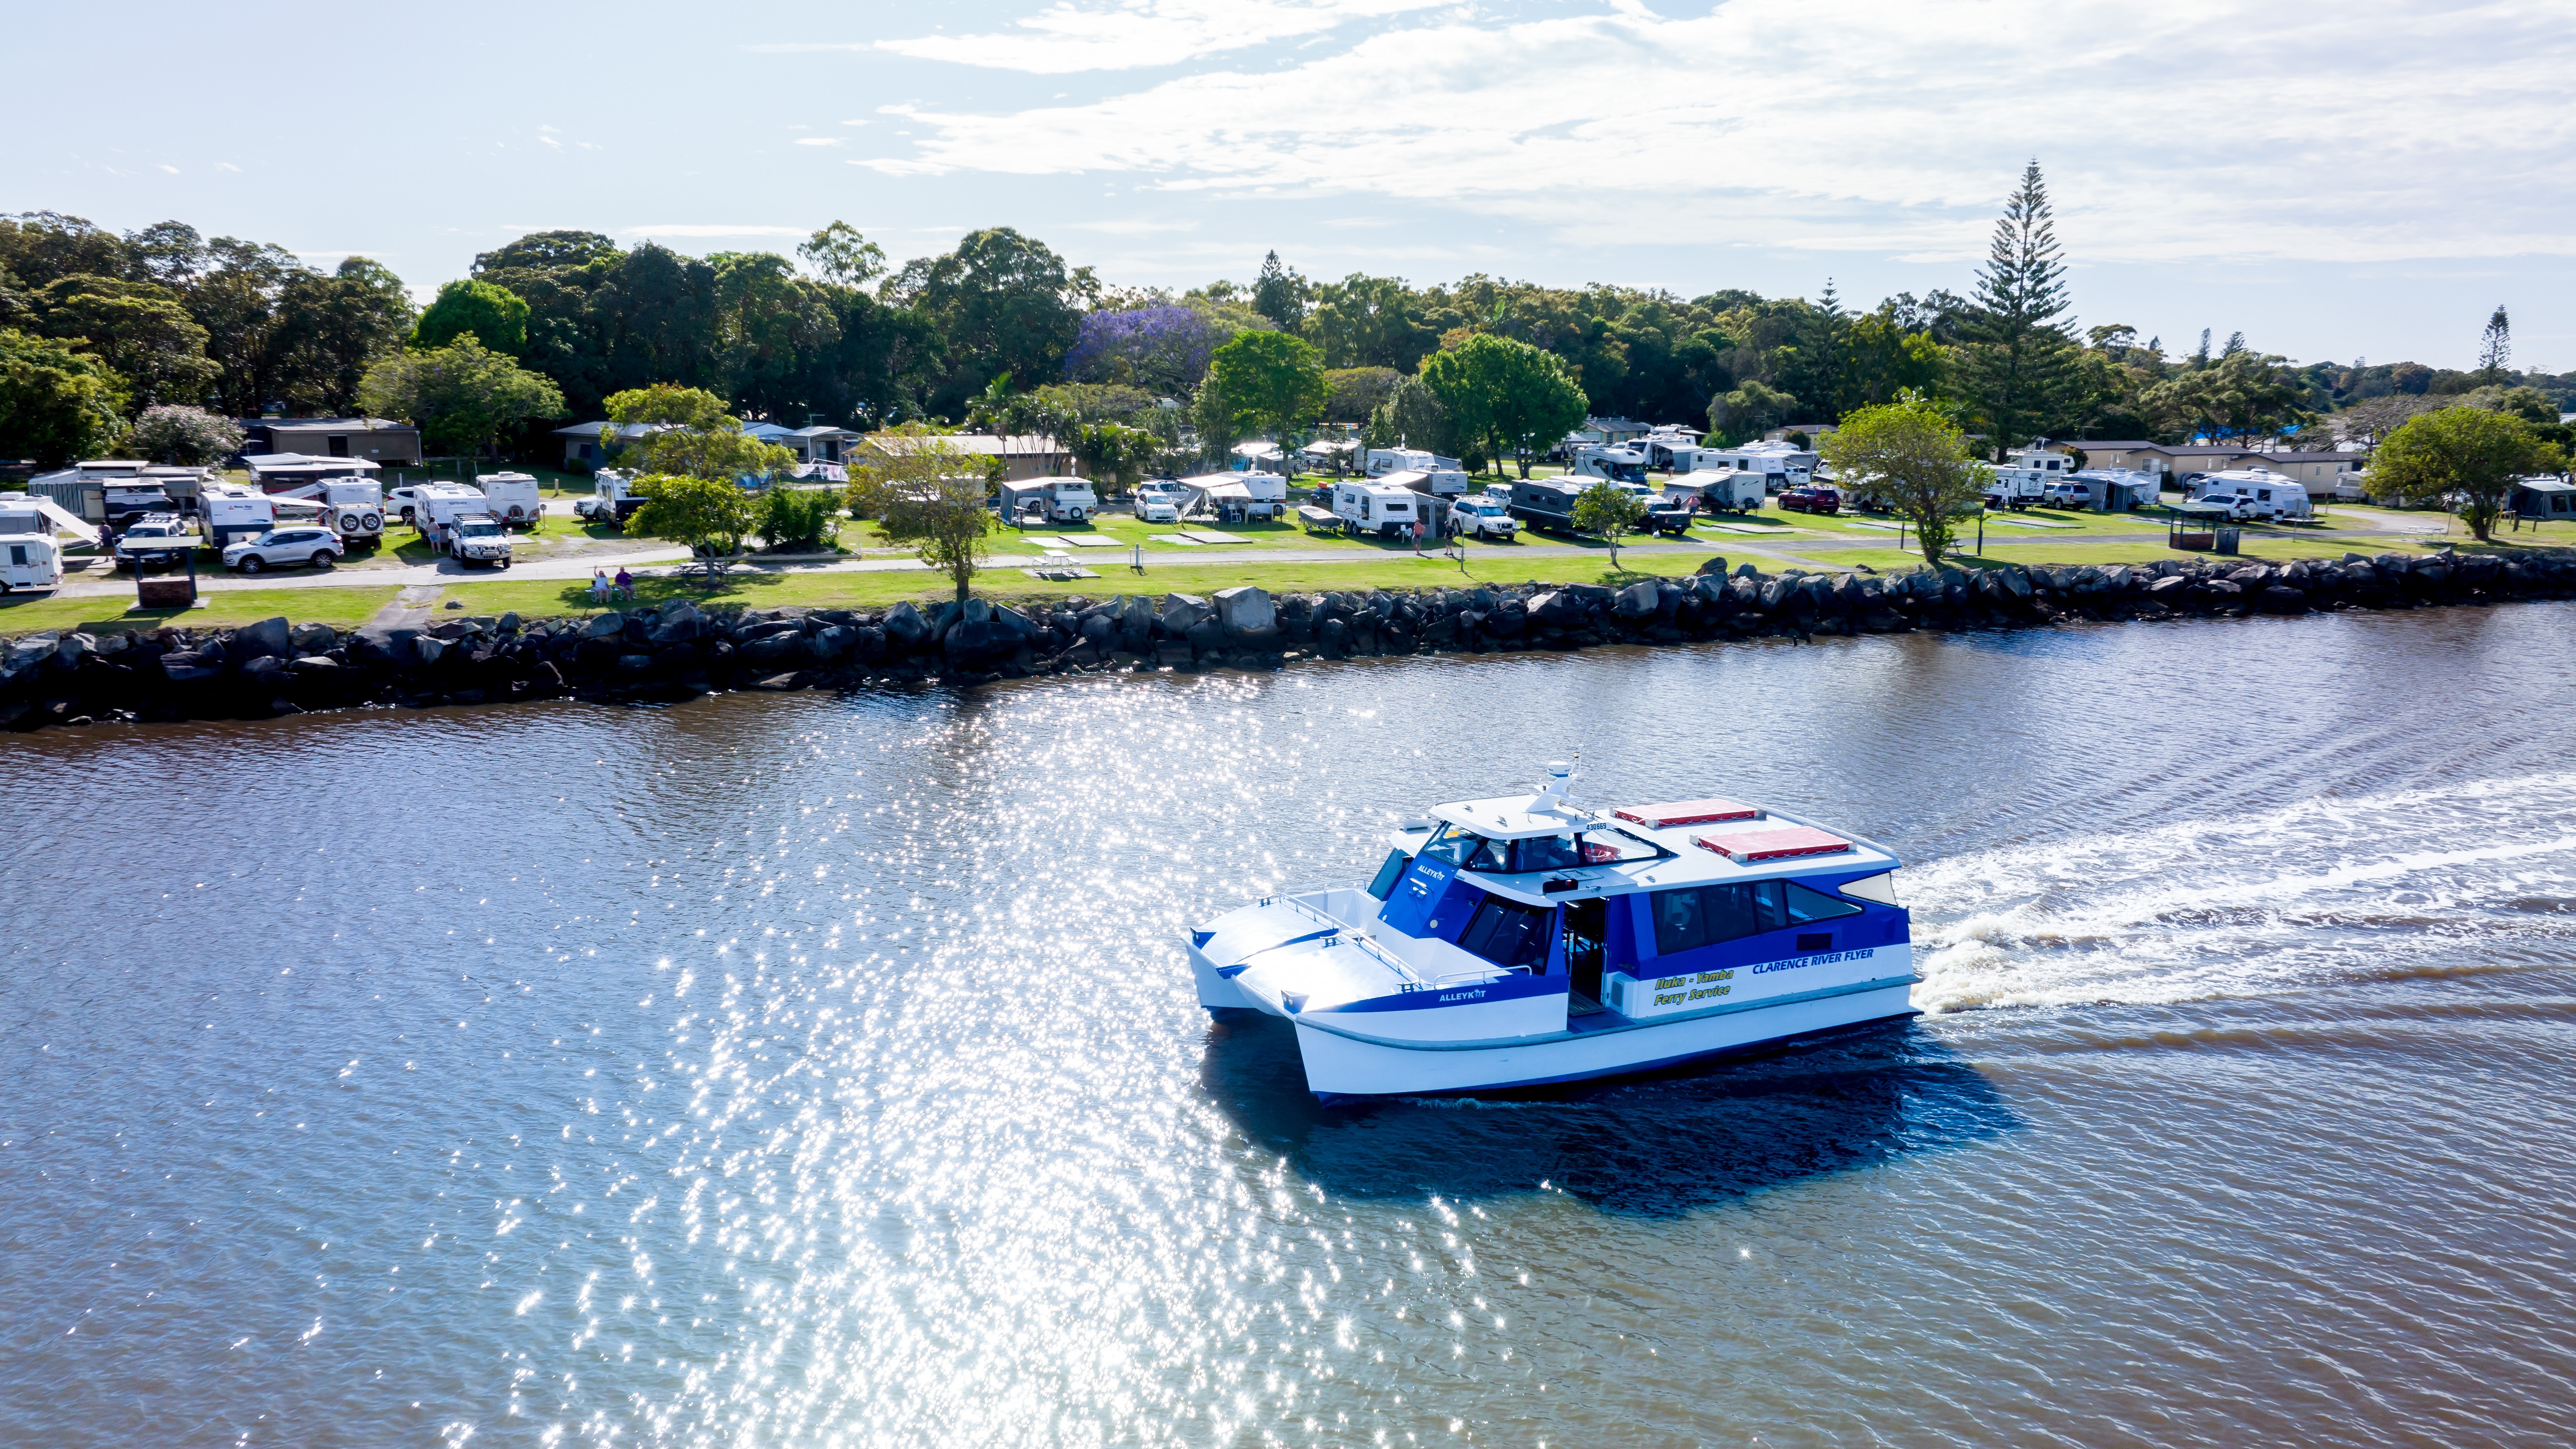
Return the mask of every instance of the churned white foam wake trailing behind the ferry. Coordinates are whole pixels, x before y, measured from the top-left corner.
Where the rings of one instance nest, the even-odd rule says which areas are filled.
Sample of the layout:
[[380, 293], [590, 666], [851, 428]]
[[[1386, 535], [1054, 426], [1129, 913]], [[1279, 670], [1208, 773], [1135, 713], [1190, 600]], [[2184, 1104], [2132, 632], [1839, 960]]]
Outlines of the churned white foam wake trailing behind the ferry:
[[2576, 773], [2321, 797], [1909, 869], [1914, 1006], [2259, 995], [2563, 936]]

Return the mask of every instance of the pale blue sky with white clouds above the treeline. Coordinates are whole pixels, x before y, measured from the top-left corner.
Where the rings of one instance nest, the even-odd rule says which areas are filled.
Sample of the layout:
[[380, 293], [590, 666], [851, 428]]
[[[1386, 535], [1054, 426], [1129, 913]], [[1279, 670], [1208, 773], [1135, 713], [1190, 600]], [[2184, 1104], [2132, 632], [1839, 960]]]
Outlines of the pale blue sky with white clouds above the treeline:
[[0, 209], [183, 219], [420, 297], [580, 227], [1121, 286], [1468, 273], [1968, 291], [2038, 160], [2079, 327], [2576, 369], [2576, 3], [951, 0], [26, 8]]

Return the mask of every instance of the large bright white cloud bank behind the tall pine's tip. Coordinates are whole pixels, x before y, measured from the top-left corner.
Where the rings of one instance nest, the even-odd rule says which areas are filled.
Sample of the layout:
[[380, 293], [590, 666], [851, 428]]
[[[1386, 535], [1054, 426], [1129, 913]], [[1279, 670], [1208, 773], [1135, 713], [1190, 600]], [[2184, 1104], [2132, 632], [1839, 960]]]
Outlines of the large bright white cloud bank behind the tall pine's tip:
[[[971, 44], [999, 46], [987, 64], [1041, 70], [1046, 46], [1079, 59], [1110, 36], [1139, 41], [1164, 10], [1054, 5], [1023, 21], [1028, 36]], [[1211, 28], [1218, 13], [1358, 13], [1185, 10]], [[2058, 232], [2087, 260], [2563, 255], [2576, 250], [2563, 21], [2548, 0], [1728, 0], [1690, 18], [1623, 3], [1522, 23], [1448, 10], [1288, 70], [1015, 113], [889, 106], [922, 131], [914, 155], [860, 165], [1136, 173], [1170, 191], [1378, 199], [1394, 214], [1453, 204], [1574, 245], [1947, 260], [1981, 253], [2038, 155]], [[966, 44], [894, 46], [966, 59], [951, 54]]]

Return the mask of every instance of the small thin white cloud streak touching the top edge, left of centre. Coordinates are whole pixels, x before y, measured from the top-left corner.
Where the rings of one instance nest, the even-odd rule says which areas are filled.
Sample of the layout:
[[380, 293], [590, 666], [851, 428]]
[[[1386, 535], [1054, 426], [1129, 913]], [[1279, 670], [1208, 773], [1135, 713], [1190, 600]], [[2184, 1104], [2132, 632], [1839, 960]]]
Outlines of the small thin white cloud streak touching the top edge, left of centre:
[[750, 46], [755, 52], [881, 49], [1030, 75], [1141, 70], [1319, 36], [1347, 21], [1432, 10], [1453, 0], [1056, 0], [984, 36]]

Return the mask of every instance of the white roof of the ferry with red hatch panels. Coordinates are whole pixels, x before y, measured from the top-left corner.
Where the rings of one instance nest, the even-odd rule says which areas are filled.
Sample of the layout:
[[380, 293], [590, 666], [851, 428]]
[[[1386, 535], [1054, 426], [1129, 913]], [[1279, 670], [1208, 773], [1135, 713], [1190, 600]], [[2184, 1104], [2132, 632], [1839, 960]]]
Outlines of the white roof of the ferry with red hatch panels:
[[[1798, 820], [1793, 815], [1780, 815], [1777, 810], [1759, 810], [1731, 799], [1687, 799], [1677, 804], [1625, 804], [1595, 810], [1548, 794], [1507, 794], [1499, 799], [1435, 804], [1430, 817], [1461, 830], [1473, 830], [1489, 841], [1530, 841], [1571, 830], [1623, 830], [1638, 841], [1672, 851], [1669, 856], [1656, 856], [1651, 861], [1618, 861], [1553, 871], [1458, 871], [1461, 879], [1476, 887], [1510, 900], [1525, 900], [1530, 905], [1556, 905], [1558, 900], [1631, 895], [1638, 890], [1672, 890], [1685, 884], [1806, 874], [1857, 877], [1870, 871], [1893, 871], [1904, 864], [1886, 846], [1852, 835], [1850, 830], [1826, 830], [1814, 820]], [[1669, 822], [1656, 825], [1656, 820]], [[1546, 890], [1546, 882], [1564, 879], [1574, 879], [1579, 884], [1571, 890]]]

